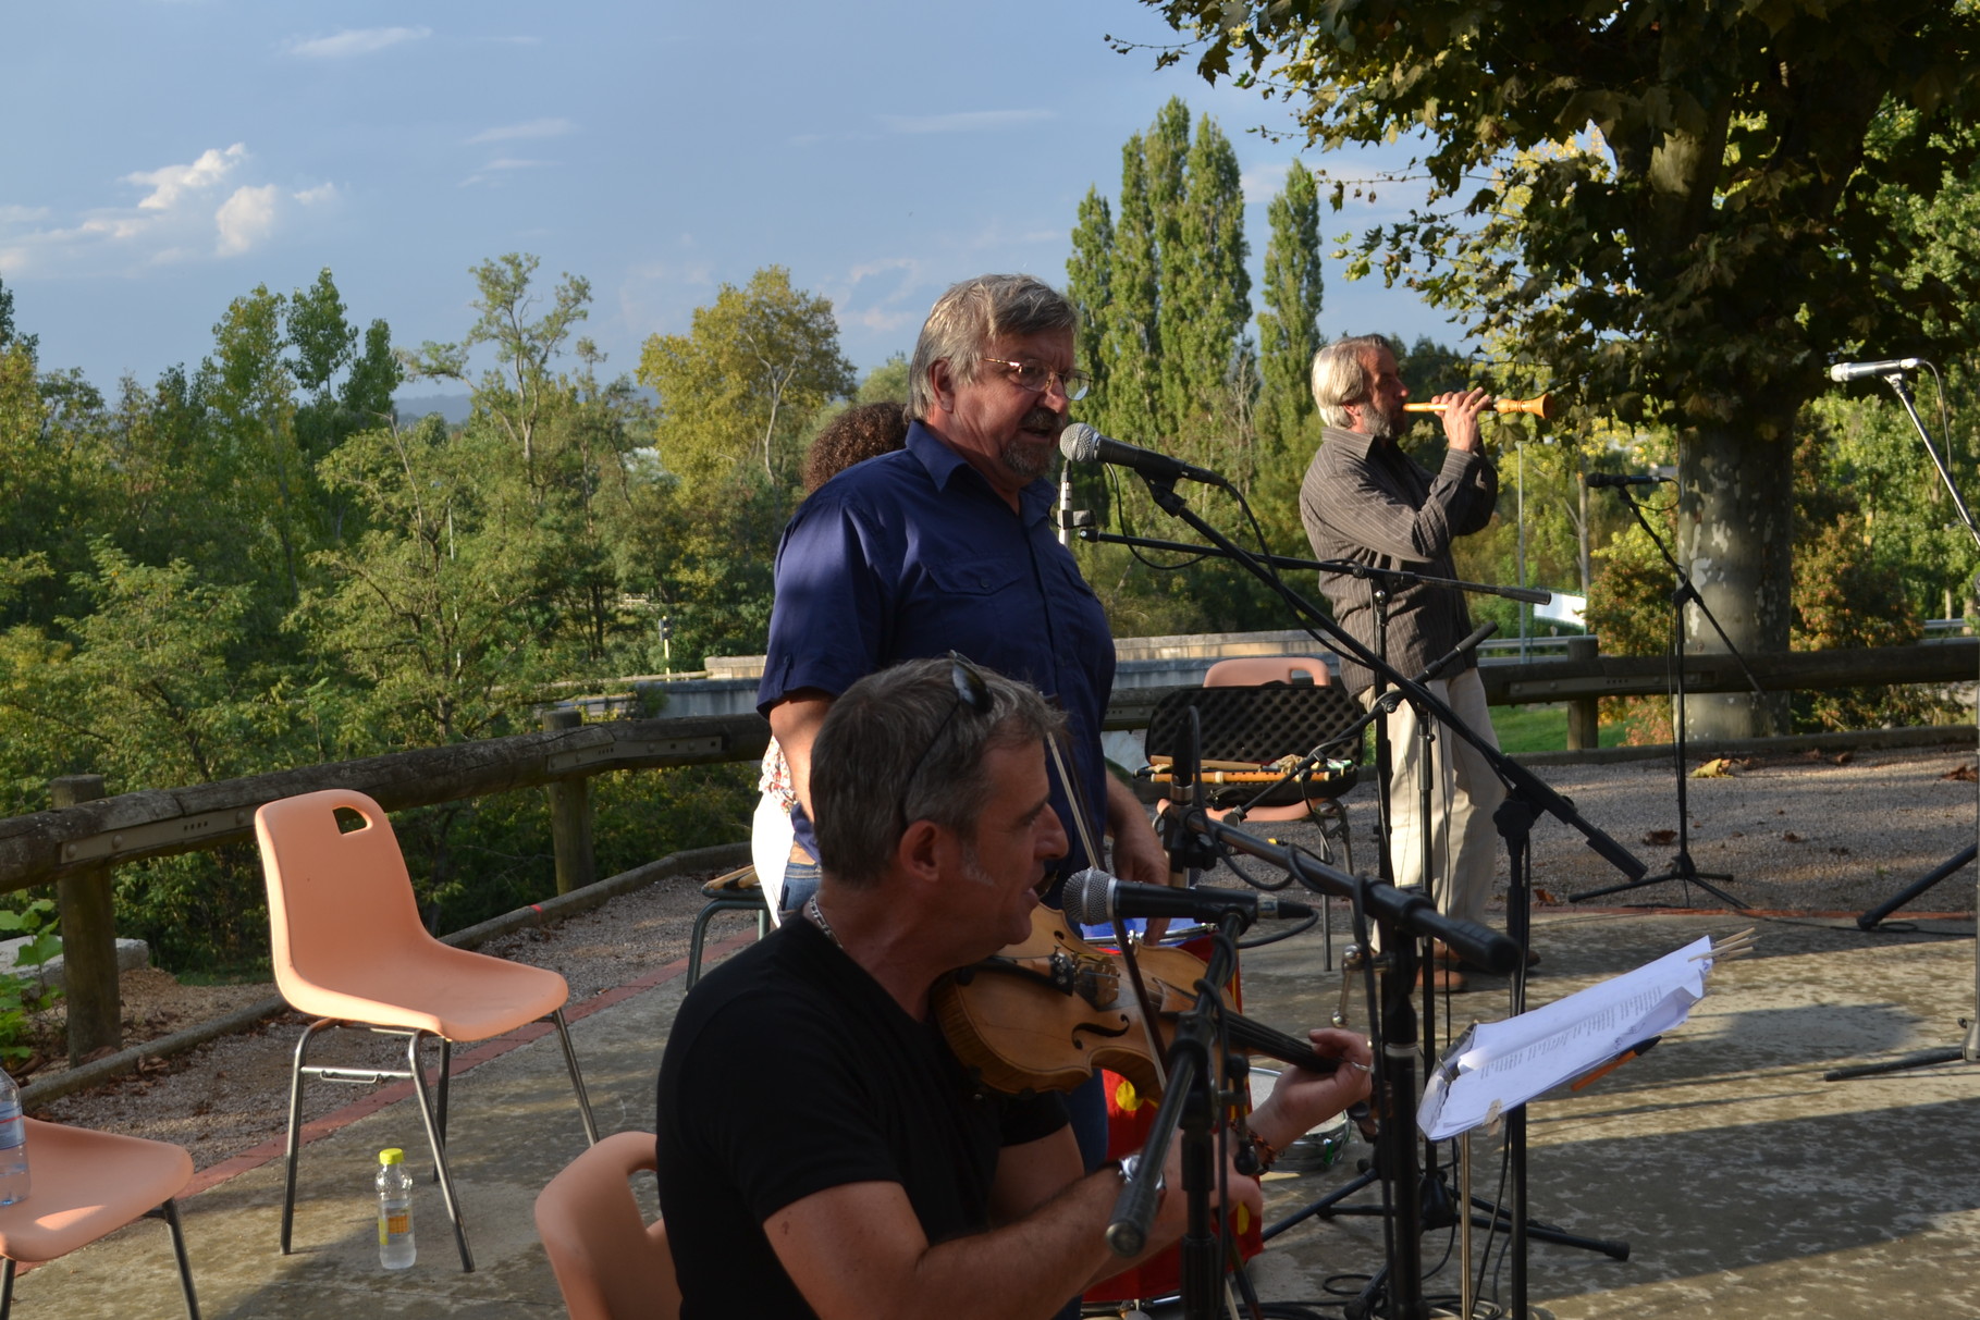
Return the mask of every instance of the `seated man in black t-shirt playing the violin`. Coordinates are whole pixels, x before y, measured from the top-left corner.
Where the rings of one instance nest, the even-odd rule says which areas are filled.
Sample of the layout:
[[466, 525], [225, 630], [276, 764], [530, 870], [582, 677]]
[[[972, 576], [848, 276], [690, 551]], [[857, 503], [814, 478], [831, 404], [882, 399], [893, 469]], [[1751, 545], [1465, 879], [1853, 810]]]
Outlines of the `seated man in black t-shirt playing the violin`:
[[[1057, 730], [1034, 689], [960, 659], [834, 701], [812, 748], [824, 877], [806, 920], [695, 988], [659, 1071], [685, 1318], [1043, 1318], [1125, 1267], [1103, 1243], [1119, 1170], [1083, 1174], [1057, 1094], [974, 1084], [929, 1007], [939, 978], [1032, 930], [1067, 849]], [[1251, 1116], [1271, 1146], [1368, 1090], [1364, 1039], [1311, 1039], [1352, 1067], [1283, 1073]], [[1257, 1213], [1257, 1183], [1228, 1178]], [[1182, 1227], [1164, 1191], [1150, 1251]]]

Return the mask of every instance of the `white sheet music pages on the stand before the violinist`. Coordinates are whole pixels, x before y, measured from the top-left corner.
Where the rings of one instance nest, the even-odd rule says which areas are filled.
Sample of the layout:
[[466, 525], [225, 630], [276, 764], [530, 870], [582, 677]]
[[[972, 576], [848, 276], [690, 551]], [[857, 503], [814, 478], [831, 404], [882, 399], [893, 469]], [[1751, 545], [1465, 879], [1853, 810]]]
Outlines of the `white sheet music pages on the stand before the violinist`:
[[1592, 1073], [1679, 1027], [1705, 997], [1711, 936], [1531, 1013], [1465, 1031], [1437, 1061], [1416, 1124], [1434, 1142]]

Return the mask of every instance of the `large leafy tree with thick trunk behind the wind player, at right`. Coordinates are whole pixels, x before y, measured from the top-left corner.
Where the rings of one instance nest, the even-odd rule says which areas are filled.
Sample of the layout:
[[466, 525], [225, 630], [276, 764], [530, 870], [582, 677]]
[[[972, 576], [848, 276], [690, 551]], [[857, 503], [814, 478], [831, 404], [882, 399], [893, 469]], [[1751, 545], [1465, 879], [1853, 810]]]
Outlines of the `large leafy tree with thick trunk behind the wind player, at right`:
[[[1586, 406], [1669, 424], [1681, 556], [1736, 647], [1786, 649], [1790, 437], [1820, 356], [1974, 334], [1962, 309], [1980, 277], [1919, 269], [1893, 198], [1934, 198], [1976, 158], [1962, 123], [1980, 101], [1980, 12], [1146, 2], [1190, 34], [1204, 77], [1236, 67], [1291, 97], [1309, 141], [1422, 135], [1430, 196], [1370, 230], [1360, 261]], [[1697, 645], [1719, 643], [1705, 629]], [[1693, 707], [1707, 734], [1778, 722], [1778, 703]]]

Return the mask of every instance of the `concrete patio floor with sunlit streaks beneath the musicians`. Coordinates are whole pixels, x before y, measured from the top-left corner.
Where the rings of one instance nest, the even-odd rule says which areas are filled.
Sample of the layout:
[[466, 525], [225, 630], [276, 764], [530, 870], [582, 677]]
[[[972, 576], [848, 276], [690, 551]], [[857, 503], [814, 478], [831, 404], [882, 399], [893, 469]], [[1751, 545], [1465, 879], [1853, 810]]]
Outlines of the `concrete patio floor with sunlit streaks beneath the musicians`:
[[[1980, 1069], [1822, 1081], [1832, 1067], [1960, 1041], [1960, 1019], [1974, 1009], [1972, 918], [1863, 934], [1847, 918], [1548, 910], [1536, 924], [1544, 964], [1531, 1001], [1748, 924], [1760, 928], [1758, 956], [1719, 968], [1689, 1025], [1588, 1090], [1531, 1108], [1533, 1213], [1630, 1243], [1628, 1261], [1534, 1243], [1533, 1302], [1562, 1320], [1980, 1314]], [[600, 1132], [651, 1128], [681, 970], [576, 1005], [572, 1033]], [[1473, 978], [1449, 1001], [1451, 1017], [1501, 1017], [1503, 988]], [[1299, 1029], [1327, 1021], [1338, 974], [1321, 972], [1319, 936], [1309, 934], [1245, 954], [1243, 991], [1251, 1017]], [[1358, 997], [1354, 1019], [1366, 1021]], [[404, 1146], [428, 1170], [414, 1102], [380, 1088], [319, 1124], [305, 1148], [295, 1255], [275, 1247], [279, 1144], [200, 1174], [182, 1211], [204, 1314], [562, 1316], [531, 1221], [535, 1193], [582, 1148], [556, 1043], [533, 1039], [461, 1063], [473, 1067], [453, 1090], [451, 1158], [475, 1273], [459, 1269], [432, 1181], [416, 1191], [418, 1265], [378, 1267], [376, 1152]], [[794, 1122], [802, 1106], [792, 1094]], [[1483, 1138], [1475, 1146], [1475, 1189], [1487, 1189], [1497, 1158]], [[1350, 1174], [1271, 1178], [1269, 1217]], [[1445, 1257], [1449, 1237], [1426, 1235], [1426, 1263]], [[1259, 1259], [1259, 1292], [1321, 1298], [1329, 1276], [1378, 1265], [1380, 1243], [1374, 1219], [1303, 1223]], [[1455, 1294], [1455, 1267], [1428, 1290]], [[184, 1314], [154, 1221], [28, 1273], [16, 1292], [24, 1318]]]

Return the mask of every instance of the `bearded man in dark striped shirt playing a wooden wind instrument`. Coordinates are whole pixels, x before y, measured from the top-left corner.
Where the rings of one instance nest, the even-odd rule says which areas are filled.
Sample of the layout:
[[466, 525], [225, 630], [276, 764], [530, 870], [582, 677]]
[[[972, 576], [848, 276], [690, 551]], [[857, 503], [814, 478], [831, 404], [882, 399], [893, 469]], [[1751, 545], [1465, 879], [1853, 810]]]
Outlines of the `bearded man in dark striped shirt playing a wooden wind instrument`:
[[[1491, 406], [1491, 396], [1469, 390], [1436, 398], [1449, 443], [1436, 475], [1412, 463], [1396, 443], [1408, 425], [1406, 398], [1410, 390], [1402, 384], [1396, 354], [1378, 334], [1342, 338], [1313, 356], [1313, 402], [1327, 425], [1299, 487], [1299, 517], [1317, 558], [1455, 578], [1451, 542], [1485, 530], [1499, 499], [1499, 475], [1479, 437], [1479, 414]], [[1344, 574], [1321, 574], [1321, 590], [1348, 635], [1382, 653], [1368, 584]], [[1463, 594], [1430, 584], [1404, 586], [1388, 604], [1388, 663], [1416, 675], [1469, 631]], [[1342, 659], [1340, 679], [1350, 693], [1370, 701], [1374, 675], [1366, 667]], [[1457, 673], [1437, 679], [1430, 691], [1469, 728], [1493, 738], [1485, 685], [1473, 657], [1467, 655]], [[1418, 809], [1422, 740], [1416, 708], [1408, 703], [1388, 716], [1388, 744], [1396, 885], [1424, 883], [1428, 831], [1441, 863], [1432, 877], [1437, 910], [1483, 922], [1495, 867], [1493, 811], [1505, 800], [1505, 784], [1469, 742], [1443, 734], [1437, 738], [1437, 782], [1424, 819]], [[1455, 970], [1432, 966], [1426, 974], [1439, 988], [1463, 990]]]

